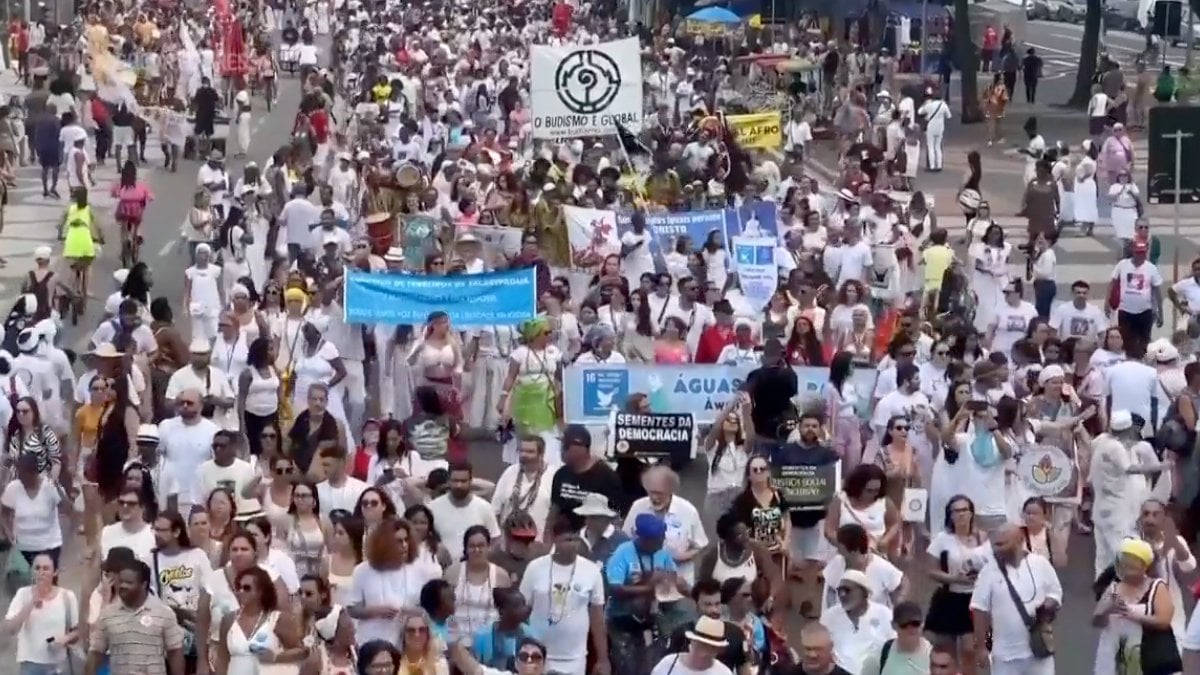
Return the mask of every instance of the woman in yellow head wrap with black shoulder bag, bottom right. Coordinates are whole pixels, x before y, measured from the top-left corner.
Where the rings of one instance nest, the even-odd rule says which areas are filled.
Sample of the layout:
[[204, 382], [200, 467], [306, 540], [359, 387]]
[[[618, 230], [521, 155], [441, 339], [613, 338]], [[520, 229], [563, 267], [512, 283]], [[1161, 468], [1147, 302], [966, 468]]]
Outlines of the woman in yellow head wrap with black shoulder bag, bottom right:
[[1174, 605], [1166, 583], [1150, 574], [1153, 546], [1129, 537], [1115, 552], [1116, 560], [1096, 561], [1106, 569], [1094, 586], [1092, 625], [1100, 628], [1100, 635], [1092, 673], [1181, 673], [1183, 663], [1171, 632], [1171, 616], [1183, 608]]

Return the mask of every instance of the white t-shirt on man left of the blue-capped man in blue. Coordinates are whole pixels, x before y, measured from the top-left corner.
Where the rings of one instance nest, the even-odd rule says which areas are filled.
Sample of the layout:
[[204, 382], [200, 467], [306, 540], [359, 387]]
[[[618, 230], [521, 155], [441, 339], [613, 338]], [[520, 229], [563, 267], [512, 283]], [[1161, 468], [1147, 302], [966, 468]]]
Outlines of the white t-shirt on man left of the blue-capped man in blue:
[[534, 558], [521, 577], [521, 595], [529, 602], [529, 633], [546, 645], [546, 669], [583, 675], [588, 610], [605, 602], [600, 566], [583, 556], [570, 566], [558, 565], [548, 555]]

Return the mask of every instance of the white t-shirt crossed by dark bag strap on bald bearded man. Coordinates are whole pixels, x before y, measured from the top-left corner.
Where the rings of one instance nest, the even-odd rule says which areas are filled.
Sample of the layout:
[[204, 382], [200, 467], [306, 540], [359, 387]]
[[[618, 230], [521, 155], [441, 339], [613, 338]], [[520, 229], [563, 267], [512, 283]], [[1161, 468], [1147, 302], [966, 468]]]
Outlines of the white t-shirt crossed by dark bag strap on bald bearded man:
[[[1062, 584], [1050, 561], [1037, 555], [1026, 554], [1015, 568], [1008, 568], [1008, 580], [1016, 590], [1016, 597], [1025, 601], [1025, 610], [1033, 616], [1037, 608], [1046, 599], [1062, 604]], [[971, 609], [991, 614], [992, 647], [991, 657], [996, 661], [1018, 661], [1032, 658], [1030, 651], [1030, 631], [1021, 619], [1021, 613], [1013, 603], [1013, 593], [1008, 581], [1000, 572], [996, 558], [984, 566], [976, 579], [976, 590], [971, 593]]]

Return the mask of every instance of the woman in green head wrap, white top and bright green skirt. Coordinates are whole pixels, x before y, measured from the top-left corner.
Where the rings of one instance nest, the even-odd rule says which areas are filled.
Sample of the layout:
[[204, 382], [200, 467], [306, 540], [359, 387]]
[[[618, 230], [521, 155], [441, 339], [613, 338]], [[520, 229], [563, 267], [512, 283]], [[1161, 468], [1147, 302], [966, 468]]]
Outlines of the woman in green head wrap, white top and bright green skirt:
[[[559, 455], [558, 436], [554, 434], [559, 420], [562, 401], [563, 352], [551, 344], [550, 324], [545, 318], [529, 319], [521, 324], [523, 345], [509, 357], [509, 374], [497, 412], [500, 424], [511, 419], [516, 436], [536, 434], [546, 441], [546, 456]], [[515, 443], [505, 446], [505, 461], [516, 461]]]

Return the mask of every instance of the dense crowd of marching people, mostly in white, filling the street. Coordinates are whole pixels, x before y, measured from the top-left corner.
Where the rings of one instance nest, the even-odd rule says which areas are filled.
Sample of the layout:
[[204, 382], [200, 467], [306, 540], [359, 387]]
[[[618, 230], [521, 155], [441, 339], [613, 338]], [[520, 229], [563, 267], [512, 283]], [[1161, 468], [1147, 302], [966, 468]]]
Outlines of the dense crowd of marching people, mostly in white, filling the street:
[[[920, 191], [946, 92], [895, 86], [865, 24], [713, 46], [605, 2], [502, 5], [106, 2], [14, 23], [32, 92], [0, 108], [0, 175], [36, 162], [44, 198], [64, 178], [68, 197], [0, 352], [22, 581], [0, 632], [22, 675], [1046, 675], [1064, 603], [1094, 607], [1097, 675], [1200, 673], [1200, 323], [1153, 339], [1165, 303], [1200, 312], [1200, 261], [1164, 292], [1123, 84], [1098, 82], [1081, 157], [1026, 125], [1020, 246], [974, 154], [961, 255]], [[535, 139], [529, 44], [630, 35], [642, 131]], [[788, 58], [815, 68], [770, 80], [780, 147], [743, 147], [721, 113]], [[991, 120], [1012, 88], [986, 89]], [[293, 89], [290, 141], [256, 157], [252, 115]], [[818, 126], [835, 185], [805, 172]], [[197, 175], [163, 258], [140, 250], [162, 225], [143, 222], [155, 143]], [[227, 155], [252, 161], [235, 175]], [[88, 198], [109, 160], [112, 214]], [[569, 207], [628, 221], [611, 255], [572, 247]], [[714, 209], [744, 229], [655, 231]], [[778, 233], [766, 298], [727, 239], [749, 221]], [[1103, 303], [1086, 281], [1056, 301], [1064, 223], [1122, 240]], [[91, 269], [106, 232], [110, 294]], [[516, 324], [347, 319], [348, 274], [526, 268], [536, 312]], [[76, 358], [64, 322], [89, 295], [103, 317]], [[703, 489], [572, 419], [581, 368], [732, 382], [696, 420]], [[493, 455], [502, 472], [476, 471]], [[1094, 596], [1067, 597], [1084, 537]], [[60, 584], [68, 565], [83, 587]]]

